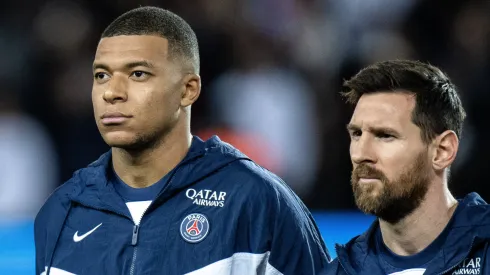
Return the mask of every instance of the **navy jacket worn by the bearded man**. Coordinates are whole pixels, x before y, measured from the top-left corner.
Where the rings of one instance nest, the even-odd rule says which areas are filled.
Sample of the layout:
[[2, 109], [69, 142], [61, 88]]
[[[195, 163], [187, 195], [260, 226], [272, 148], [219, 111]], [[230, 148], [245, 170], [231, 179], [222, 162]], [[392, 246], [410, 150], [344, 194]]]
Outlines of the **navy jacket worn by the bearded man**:
[[[322, 275], [385, 274], [373, 253], [378, 221], [346, 245], [336, 245], [337, 258]], [[454, 212], [443, 248], [424, 275], [490, 274], [490, 206], [476, 193], [468, 194]]]

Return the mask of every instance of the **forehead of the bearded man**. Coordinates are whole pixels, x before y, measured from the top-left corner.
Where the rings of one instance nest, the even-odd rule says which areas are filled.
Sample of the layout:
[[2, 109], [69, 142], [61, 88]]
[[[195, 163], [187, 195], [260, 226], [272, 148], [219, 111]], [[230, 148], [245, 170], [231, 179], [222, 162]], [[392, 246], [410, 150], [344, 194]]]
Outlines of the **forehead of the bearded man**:
[[360, 127], [405, 128], [412, 123], [415, 96], [405, 92], [364, 94], [356, 105], [351, 123]]

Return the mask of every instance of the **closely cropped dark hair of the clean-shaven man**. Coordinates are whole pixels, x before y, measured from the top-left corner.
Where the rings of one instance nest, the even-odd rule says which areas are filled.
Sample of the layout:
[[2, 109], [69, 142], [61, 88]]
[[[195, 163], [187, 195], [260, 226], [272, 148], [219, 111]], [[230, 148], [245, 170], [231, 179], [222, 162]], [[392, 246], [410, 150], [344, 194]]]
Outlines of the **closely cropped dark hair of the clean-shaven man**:
[[[118, 35], [157, 35], [168, 40], [169, 57], [183, 57], [199, 73], [199, 45], [191, 26], [175, 13], [158, 7], [130, 10], [104, 30], [102, 38]], [[176, 55], [176, 56], [174, 56]]]

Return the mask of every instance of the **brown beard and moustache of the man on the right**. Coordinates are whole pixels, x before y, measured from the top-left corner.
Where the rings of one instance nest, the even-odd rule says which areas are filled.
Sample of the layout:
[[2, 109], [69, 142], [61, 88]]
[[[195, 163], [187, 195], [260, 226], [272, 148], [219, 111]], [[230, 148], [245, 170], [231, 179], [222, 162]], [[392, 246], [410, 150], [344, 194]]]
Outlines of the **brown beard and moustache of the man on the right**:
[[[389, 180], [383, 172], [360, 164], [352, 171], [351, 183], [357, 207], [389, 223], [397, 223], [417, 209], [429, 189], [427, 153], [415, 161], [396, 179]], [[360, 178], [375, 178], [379, 182], [359, 183]]]

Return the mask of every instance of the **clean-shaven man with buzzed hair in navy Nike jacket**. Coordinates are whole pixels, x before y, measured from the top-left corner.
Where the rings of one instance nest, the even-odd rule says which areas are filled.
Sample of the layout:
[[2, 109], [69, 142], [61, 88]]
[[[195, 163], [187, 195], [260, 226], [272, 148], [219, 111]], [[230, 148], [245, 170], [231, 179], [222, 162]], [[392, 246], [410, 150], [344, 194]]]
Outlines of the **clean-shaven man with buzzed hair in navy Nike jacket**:
[[39, 211], [36, 274], [316, 274], [328, 263], [311, 214], [279, 177], [191, 135], [199, 50], [182, 18], [155, 7], [121, 15], [93, 74], [112, 149]]

